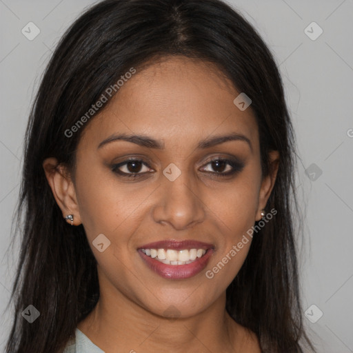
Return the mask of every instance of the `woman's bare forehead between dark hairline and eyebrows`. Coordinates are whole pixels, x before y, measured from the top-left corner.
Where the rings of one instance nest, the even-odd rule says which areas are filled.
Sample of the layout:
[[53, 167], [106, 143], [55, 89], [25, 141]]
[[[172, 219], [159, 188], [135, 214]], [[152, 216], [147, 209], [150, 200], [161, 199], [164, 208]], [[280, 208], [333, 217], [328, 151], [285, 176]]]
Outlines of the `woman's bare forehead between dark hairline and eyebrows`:
[[151, 63], [123, 83], [82, 139], [99, 145], [117, 132], [144, 134], [165, 141], [168, 148], [238, 132], [256, 143], [252, 110], [241, 111], [233, 103], [239, 93], [212, 63], [185, 57]]

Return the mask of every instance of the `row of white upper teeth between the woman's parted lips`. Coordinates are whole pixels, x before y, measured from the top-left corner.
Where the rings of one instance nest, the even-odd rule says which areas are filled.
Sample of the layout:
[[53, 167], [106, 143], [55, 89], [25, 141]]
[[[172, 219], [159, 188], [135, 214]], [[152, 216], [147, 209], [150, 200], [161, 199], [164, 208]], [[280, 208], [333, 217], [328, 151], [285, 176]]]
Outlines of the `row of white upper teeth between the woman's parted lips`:
[[172, 250], [172, 249], [141, 249], [147, 256], [156, 259], [166, 265], [185, 265], [192, 263], [196, 258], [200, 258], [206, 253], [204, 249], [185, 249], [185, 250]]

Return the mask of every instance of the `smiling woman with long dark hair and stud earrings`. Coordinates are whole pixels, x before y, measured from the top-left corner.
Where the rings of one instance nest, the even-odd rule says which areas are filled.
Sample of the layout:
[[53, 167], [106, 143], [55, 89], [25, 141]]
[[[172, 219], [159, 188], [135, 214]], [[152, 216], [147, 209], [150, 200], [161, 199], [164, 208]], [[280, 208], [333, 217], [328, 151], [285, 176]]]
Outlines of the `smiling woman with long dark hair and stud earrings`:
[[228, 5], [90, 8], [30, 114], [6, 352], [312, 349], [294, 156], [272, 54]]

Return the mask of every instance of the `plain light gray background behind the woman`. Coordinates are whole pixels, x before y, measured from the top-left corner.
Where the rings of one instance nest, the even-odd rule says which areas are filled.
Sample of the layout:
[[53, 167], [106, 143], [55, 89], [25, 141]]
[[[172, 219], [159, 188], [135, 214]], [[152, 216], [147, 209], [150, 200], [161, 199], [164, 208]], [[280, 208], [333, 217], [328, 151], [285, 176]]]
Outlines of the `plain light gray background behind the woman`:
[[[319, 352], [353, 352], [353, 1], [229, 1], [259, 30], [283, 75], [301, 163], [296, 175], [305, 214], [301, 252], [305, 325]], [[57, 41], [90, 0], [0, 0], [0, 351], [10, 329], [17, 251], [9, 252], [30, 103]], [[29, 41], [21, 29], [34, 22]], [[315, 21], [323, 34], [312, 40]], [[308, 28], [311, 35], [317, 28]], [[308, 173], [305, 170], [308, 169]], [[322, 174], [320, 174], [320, 171]], [[17, 244], [18, 247], [18, 244]]]

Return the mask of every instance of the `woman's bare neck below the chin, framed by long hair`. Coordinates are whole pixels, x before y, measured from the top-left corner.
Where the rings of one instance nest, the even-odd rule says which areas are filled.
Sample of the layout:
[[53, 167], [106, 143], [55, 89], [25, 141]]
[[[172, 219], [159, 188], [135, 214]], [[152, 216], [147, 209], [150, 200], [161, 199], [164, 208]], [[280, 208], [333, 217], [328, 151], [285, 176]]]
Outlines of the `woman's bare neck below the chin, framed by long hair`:
[[103, 288], [96, 307], [77, 327], [106, 353], [226, 353], [238, 352], [234, 345], [243, 346], [241, 326], [225, 310], [225, 292], [203, 312], [172, 319], [154, 314], [116, 288]]

